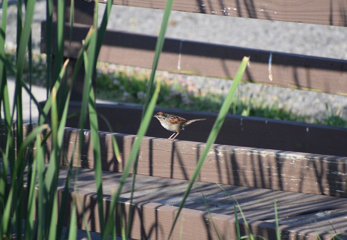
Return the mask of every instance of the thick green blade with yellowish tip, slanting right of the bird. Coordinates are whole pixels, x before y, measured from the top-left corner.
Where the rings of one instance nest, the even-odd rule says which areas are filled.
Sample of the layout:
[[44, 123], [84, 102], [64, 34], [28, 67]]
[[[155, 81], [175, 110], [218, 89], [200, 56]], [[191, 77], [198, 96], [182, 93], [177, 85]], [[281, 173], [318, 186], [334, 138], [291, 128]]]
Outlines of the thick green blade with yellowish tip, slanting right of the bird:
[[217, 116], [217, 119], [216, 121], [214, 122], [214, 125], [212, 127], [212, 131], [210, 132], [210, 135], [207, 139], [207, 142], [206, 142], [206, 146], [201, 154], [201, 156], [199, 157], [199, 160], [196, 164], [196, 168], [194, 170], [194, 173], [192, 175], [192, 178], [191, 180], [189, 181], [189, 184], [187, 186], [187, 189], [184, 193], [184, 196], [183, 196], [183, 199], [179, 205], [179, 209], [177, 211], [177, 214], [176, 214], [176, 217], [175, 217], [175, 220], [174, 220], [174, 223], [172, 224], [172, 227], [171, 227], [171, 230], [170, 230], [170, 233], [168, 235], [168, 239], [170, 239], [171, 237], [171, 234], [172, 232], [174, 231], [174, 227], [175, 227], [175, 224], [177, 222], [177, 219], [179, 217], [179, 214], [182, 210], [182, 208], [184, 207], [184, 203], [189, 195], [189, 192], [195, 182], [195, 179], [197, 178], [198, 174], [200, 173], [200, 170], [205, 162], [205, 159], [206, 159], [206, 156], [208, 155], [211, 147], [212, 147], [212, 144], [214, 143], [215, 139], [217, 138], [217, 135], [219, 133], [219, 130], [221, 129], [222, 127], [222, 124], [224, 122], [224, 119], [225, 117], [227, 116], [228, 114], [228, 111], [229, 111], [229, 108], [230, 108], [230, 105], [232, 103], [232, 100], [234, 99], [234, 95], [235, 95], [235, 92], [236, 92], [236, 89], [240, 83], [240, 81], [242, 80], [242, 76], [245, 72], [245, 69], [247, 67], [247, 63], [248, 63], [248, 58], [247, 57], [244, 57], [242, 62], [241, 62], [241, 65], [236, 73], [236, 76], [234, 78], [234, 81], [230, 87], [230, 90], [229, 90], [229, 93], [227, 94], [224, 102], [223, 102], [223, 105], [219, 111], [219, 114]]

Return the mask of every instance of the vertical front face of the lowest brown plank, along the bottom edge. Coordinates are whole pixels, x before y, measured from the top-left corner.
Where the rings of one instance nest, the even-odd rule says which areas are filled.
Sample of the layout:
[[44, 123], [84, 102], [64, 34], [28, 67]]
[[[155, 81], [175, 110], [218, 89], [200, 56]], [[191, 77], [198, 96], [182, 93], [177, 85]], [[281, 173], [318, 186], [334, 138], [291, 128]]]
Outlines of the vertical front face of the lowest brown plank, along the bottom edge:
[[[10, 185], [11, 183], [8, 182], [7, 187], [9, 188]], [[27, 186], [25, 185], [24, 195], [26, 195], [26, 192]], [[36, 189], [36, 194], [37, 192], [38, 190]], [[59, 211], [61, 207], [63, 192], [64, 187], [58, 187], [57, 211]], [[100, 232], [99, 209], [95, 192], [81, 190], [74, 191], [73, 189], [69, 189], [64, 225], [69, 225], [73, 198], [76, 199], [77, 228], [82, 230], [88, 228], [89, 231]], [[110, 195], [104, 195], [103, 197], [105, 221], [107, 221], [110, 214], [110, 199]], [[118, 220], [116, 221], [116, 235], [120, 235], [121, 225], [119, 219], [122, 219], [123, 226], [126, 226], [127, 221], [129, 221], [129, 210], [131, 207], [133, 215], [130, 220], [129, 237], [132, 239], [166, 239], [178, 210], [178, 207], [175, 206], [136, 200], [133, 200], [132, 205], [130, 205], [130, 200], [127, 198], [119, 198], [118, 203], [118, 208], [114, 215], [115, 219]], [[24, 206], [26, 206], [26, 203], [24, 203]], [[37, 201], [35, 209], [37, 209]], [[25, 215], [26, 209], [24, 209], [24, 216]], [[87, 226], [85, 225], [83, 215], [87, 220]], [[36, 216], [36, 214], [34, 214], [34, 216]], [[36, 217], [34, 217], [34, 220], [35, 219]], [[239, 219], [238, 221], [240, 235], [248, 235], [249, 232], [244, 220]], [[248, 220], [247, 224], [254, 235], [262, 236], [268, 240], [276, 239], [275, 223]], [[331, 239], [332, 237], [332, 233], [313, 231], [302, 227], [292, 227], [285, 224], [280, 224], [279, 228], [281, 239], [283, 240], [315, 240], [318, 235], [321, 239]], [[221, 239], [236, 239], [237, 230], [235, 216], [233, 214], [222, 215], [211, 213], [210, 217], [208, 212], [183, 208], [170, 239], [217, 239], [218, 236], [215, 230], [220, 234]], [[346, 239], [345, 235], [339, 236], [341, 239]]]

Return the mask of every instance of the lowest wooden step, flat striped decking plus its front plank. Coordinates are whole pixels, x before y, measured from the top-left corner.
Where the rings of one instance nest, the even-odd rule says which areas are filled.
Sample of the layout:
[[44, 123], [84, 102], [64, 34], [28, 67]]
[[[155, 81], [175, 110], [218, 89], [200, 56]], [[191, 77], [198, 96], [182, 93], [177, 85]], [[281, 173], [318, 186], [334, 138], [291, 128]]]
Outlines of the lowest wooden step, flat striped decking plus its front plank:
[[[82, 217], [82, 209], [84, 208], [89, 229], [98, 232], [100, 229], [94, 171], [78, 168], [73, 171], [73, 174], [75, 173], [78, 174], [78, 180], [71, 182], [69, 201], [71, 207], [72, 197], [78, 197], [78, 228], [86, 228]], [[58, 189], [58, 199], [61, 199], [66, 175], [67, 167], [60, 167], [59, 185], [61, 187]], [[112, 190], [118, 188], [121, 173], [103, 171], [102, 176], [104, 209], [108, 209], [110, 195]], [[130, 197], [131, 181], [132, 176], [130, 175], [120, 198], [123, 220], [129, 214], [130, 201], [128, 198]], [[137, 175], [130, 237], [134, 239], [166, 239], [187, 183], [188, 181], [184, 180]], [[73, 192], [75, 185], [78, 189], [77, 192]], [[342, 239], [347, 239], [347, 220], [345, 218], [347, 199], [345, 198], [232, 185], [221, 186], [238, 201], [253, 234], [262, 235], [268, 240], [276, 239], [274, 232], [274, 199], [276, 199], [281, 239], [317, 239], [317, 235], [320, 235], [321, 239], [330, 239], [334, 231], [340, 233], [339, 236]], [[180, 239], [181, 226], [183, 227], [181, 239], [217, 239], [201, 193], [204, 194], [221, 239], [235, 239], [237, 236], [232, 199], [217, 184], [202, 182], [196, 182], [193, 185], [185, 208], [176, 224], [172, 239]], [[67, 216], [69, 211], [70, 209], [67, 210]], [[241, 234], [246, 235], [248, 231], [239, 209], [237, 212]], [[106, 213], [108, 214], [108, 210]], [[116, 217], [119, 217], [118, 211]]]

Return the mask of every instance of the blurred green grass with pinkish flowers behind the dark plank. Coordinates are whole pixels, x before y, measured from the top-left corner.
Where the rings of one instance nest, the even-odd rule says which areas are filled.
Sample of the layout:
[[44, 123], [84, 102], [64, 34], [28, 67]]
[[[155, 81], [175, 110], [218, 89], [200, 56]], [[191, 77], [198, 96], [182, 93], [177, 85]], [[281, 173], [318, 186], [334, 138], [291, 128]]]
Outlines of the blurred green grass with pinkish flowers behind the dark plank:
[[[15, 61], [15, 49], [7, 48], [7, 56]], [[26, 69], [24, 78], [28, 79]], [[46, 55], [33, 54], [33, 84], [45, 86]], [[150, 70], [139, 67], [129, 67], [99, 62], [96, 72], [96, 98], [116, 102], [143, 104], [146, 96], [147, 82]], [[157, 106], [164, 108], [179, 108], [185, 110], [218, 112], [224, 93], [212, 91], [210, 86], [198, 86], [194, 81], [187, 81], [181, 75], [157, 71], [161, 90]], [[272, 119], [311, 122], [329, 126], [347, 127], [347, 120], [342, 117], [342, 110], [333, 113], [327, 106], [323, 119], [309, 121], [308, 116], [280, 107], [277, 102], [269, 105], [252, 96], [244, 99], [238, 95], [230, 108], [230, 113], [242, 116], [265, 117]]]

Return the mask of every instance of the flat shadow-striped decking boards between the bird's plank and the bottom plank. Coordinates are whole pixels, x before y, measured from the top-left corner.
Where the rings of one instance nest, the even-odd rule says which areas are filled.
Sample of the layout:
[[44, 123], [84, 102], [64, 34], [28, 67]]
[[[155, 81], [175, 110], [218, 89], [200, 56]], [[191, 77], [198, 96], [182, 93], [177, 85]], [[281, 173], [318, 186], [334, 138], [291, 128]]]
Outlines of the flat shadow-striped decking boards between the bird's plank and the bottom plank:
[[[61, 167], [60, 176], [64, 183], [66, 173], [67, 167]], [[104, 193], [110, 195], [112, 189], [118, 188], [121, 174], [103, 171], [102, 175]], [[94, 178], [94, 171], [91, 171], [91, 169], [81, 168], [78, 169], [78, 182], [75, 184], [78, 186], [79, 190], [96, 191]], [[130, 175], [124, 185], [121, 197], [130, 198], [129, 189], [131, 181], [132, 176]], [[170, 206], [179, 206], [187, 184], [188, 181], [184, 180], [138, 175], [136, 177], [133, 197], [138, 203], [151, 201]], [[74, 186], [71, 185], [71, 188], [73, 187]], [[343, 198], [236, 187], [225, 184], [222, 184], [221, 187], [238, 201], [247, 220], [273, 222], [273, 201], [275, 198], [277, 202], [278, 216], [279, 218], [283, 218], [283, 223], [289, 217], [292, 219], [291, 221], [294, 221], [293, 219], [297, 218], [297, 223], [292, 224], [292, 226], [307, 225], [306, 223], [311, 221], [310, 225], [312, 228], [324, 231], [324, 228], [322, 228], [324, 225], [322, 222], [324, 222], [324, 220], [329, 218], [329, 222], [332, 222], [332, 219], [336, 218], [336, 215], [341, 215], [341, 211], [347, 211], [345, 210], [347, 199]], [[217, 186], [217, 184], [214, 183], [196, 182], [187, 198], [185, 208], [206, 211], [201, 194], [202, 192], [211, 213], [234, 215], [232, 200]], [[321, 218], [322, 212], [328, 213], [329, 211], [331, 214], [327, 214], [327, 218], [319, 219], [319, 221], [312, 221], [313, 219]], [[310, 216], [310, 220], [305, 220], [304, 216], [308, 215]], [[240, 214], [239, 218], [242, 218]], [[302, 218], [302, 220], [300, 220], [300, 218]], [[299, 223], [303, 223], [303, 221], [306, 221], [306, 223], [300, 225]], [[335, 221], [335, 224], [342, 224], [344, 221], [347, 220], [340, 219], [339, 221]], [[287, 223], [289, 222], [290, 221], [287, 221]], [[317, 224], [317, 222], [320, 223]], [[339, 229], [341, 229], [341, 227]], [[327, 231], [326, 227], [325, 230]]]

